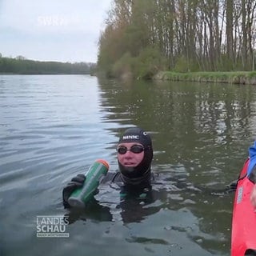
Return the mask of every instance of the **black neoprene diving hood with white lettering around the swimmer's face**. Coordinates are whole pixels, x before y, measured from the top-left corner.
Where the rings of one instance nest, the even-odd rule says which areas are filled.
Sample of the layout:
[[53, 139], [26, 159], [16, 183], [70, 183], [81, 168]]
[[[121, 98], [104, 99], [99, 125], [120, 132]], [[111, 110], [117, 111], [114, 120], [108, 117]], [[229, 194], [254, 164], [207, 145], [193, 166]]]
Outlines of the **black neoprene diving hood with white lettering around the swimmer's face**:
[[[119, 144], [129, 142], [138, 142], [144, 146], [144, 158], [136, 167], [122, 166], [122, 164], [118, 161], [118, 166], [122, 175], [128, 179], [137, 179], [143, 177], [149, 178], [153, 158], [153, 148], [150, 135], [141, 128], [129, 128], [124, 132], [124, 134], [122, 134], [121, 138], [119, 139]], [[132, 182], [132, 180], [130, 180], [130, 182]]]

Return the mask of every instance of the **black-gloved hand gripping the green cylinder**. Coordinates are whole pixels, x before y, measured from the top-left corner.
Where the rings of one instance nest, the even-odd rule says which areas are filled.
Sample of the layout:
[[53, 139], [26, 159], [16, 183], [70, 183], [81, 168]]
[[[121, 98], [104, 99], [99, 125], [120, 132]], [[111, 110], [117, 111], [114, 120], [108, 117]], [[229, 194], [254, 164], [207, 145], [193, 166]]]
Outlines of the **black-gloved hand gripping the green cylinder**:
[[62, 190], [62, 199], [63, 199], [63, 206], [65, 208], [69, 208], [70, 205], [67, 200], [70, 198], [70, 195], [74, 192], [74, 190], [81, 188], [83, 183], [86, 181], [86, 176], [84, 174], [78, 174], [74, 178], [71, 179], [70, 182]]

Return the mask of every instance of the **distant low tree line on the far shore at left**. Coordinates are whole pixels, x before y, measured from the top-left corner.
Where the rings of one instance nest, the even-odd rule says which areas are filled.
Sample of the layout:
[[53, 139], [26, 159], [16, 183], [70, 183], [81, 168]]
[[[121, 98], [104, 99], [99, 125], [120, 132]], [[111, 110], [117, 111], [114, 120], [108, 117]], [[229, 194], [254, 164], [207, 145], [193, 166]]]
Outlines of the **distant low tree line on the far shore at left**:
[[2, 74], [92, 74], [94, 68], [94, 63], [38, 62], [22, 56], [6, 58], [0, 54]]

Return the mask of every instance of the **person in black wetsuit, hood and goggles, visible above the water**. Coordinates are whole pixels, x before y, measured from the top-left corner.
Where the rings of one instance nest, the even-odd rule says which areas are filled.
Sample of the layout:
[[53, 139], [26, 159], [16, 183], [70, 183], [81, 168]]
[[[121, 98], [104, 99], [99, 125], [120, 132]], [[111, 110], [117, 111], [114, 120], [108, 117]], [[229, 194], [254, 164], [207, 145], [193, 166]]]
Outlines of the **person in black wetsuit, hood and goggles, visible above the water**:
[[[114, 182], [120, 187], [121, 197], [130, 194], [141, 197], [151, 190], [151, 173], [153, 148], [150, 135], [138, 127], [127, 129], [118, 142], [117, 173], [107, 173], [102, 182]], [[86, 176], [78, 174], [64, 187], [62, 191], [63, 205], [70, 207], [67, 202], [70, 194], [83, 186]]]

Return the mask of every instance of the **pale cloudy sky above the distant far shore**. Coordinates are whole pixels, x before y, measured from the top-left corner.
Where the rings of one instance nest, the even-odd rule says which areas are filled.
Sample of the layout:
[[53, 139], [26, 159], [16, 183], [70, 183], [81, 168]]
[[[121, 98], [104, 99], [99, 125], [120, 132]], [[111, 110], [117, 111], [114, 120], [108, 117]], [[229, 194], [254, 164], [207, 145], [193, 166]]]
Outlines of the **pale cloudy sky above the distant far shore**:
[[0, 0], [0, 54], [97, 62], [111, 0]]

